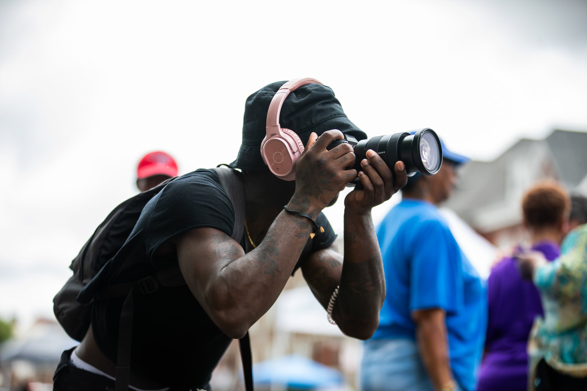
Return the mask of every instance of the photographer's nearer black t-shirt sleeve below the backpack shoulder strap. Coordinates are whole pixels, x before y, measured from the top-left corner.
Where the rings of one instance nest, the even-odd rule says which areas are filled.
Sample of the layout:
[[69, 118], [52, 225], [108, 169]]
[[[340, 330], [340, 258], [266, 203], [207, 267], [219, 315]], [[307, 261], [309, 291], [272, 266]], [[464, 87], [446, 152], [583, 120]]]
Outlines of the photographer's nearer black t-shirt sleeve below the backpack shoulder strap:
[[158, 246], [190, 229], [212, 227], [230, 236], [234, 226], [232, 203], [210, 170], [194, 171], [170, 182], [147, 203], [141, 217], [148, 219], [144, 241], [151, 260]]

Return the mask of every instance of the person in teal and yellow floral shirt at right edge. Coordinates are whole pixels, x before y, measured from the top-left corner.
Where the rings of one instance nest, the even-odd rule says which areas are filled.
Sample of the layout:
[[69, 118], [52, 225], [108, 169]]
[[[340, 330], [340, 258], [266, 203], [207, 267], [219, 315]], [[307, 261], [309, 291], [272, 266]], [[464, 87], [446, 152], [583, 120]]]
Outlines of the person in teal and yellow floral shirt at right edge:
[[568, 234], [551, 263], [539, 253], [518, 259], [544, 307], [530, 338], [530, 389], [587, 390], [587, 225]]

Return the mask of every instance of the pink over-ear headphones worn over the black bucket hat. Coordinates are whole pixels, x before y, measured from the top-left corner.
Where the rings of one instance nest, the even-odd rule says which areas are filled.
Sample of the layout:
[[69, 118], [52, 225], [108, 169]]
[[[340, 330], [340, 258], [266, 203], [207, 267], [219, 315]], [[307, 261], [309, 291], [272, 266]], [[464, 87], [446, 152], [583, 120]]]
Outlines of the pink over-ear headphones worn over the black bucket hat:
[[295, 180], [295, 162], [302, 156], [304, 148], [294, 131], [279, 126], [279, 113], [291, 91], [312, 83], [322, 84], [309, 77], [288, 81], [275, 93], [267, 111], [267, 134], [261, 142], [261, 157], [269, 170], [284, 181]]

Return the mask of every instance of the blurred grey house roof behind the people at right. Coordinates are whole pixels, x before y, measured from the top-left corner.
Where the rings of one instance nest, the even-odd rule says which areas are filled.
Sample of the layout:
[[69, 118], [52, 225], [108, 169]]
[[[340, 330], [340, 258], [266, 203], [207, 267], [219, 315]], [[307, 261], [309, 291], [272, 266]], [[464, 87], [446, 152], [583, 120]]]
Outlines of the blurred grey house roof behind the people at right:
[[521, 223], [519, 202], [533, 183], [552, 178], [569, 192], [587, 191], [587, 133], [555, 130], [522, 139], [491, 162], [471, 161], [444, 204], [481, 233]]

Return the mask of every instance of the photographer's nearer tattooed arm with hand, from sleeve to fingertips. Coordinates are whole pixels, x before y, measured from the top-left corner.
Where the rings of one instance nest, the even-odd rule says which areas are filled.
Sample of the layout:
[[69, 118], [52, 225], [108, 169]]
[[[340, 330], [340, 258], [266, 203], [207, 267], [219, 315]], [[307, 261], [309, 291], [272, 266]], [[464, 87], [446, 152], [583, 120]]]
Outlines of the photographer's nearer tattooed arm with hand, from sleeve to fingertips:
[[[312, 133], [306, 152], [296, 163], [296, 189], [289, 208], [313, 219], [356, 177], [345, 170], [354, 159], [347, 144], [326, 151], [339, 131]], [[350, 156], [352, 155], [352, 156]], [[279, 213], [265, 238], [245, 254], [227, 234], [201, 227], [176, 243], [181, 273], [194, 297], [225, 334], [241, 338], [283, 290], [312, 231], [306, 217]]]

